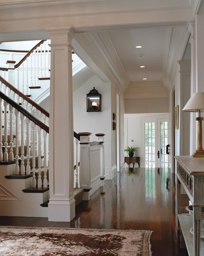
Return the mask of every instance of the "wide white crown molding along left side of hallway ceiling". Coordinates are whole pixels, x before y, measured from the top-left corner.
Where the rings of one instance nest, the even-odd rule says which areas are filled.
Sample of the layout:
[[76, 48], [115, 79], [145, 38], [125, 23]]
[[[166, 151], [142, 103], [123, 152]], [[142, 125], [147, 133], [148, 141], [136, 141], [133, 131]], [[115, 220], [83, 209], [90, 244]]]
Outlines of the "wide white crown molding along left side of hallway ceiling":
[[[75, 40], [83, 48], [83, 51], [89, 55], [92, 60], [91, 64], [96, 63], [96, 66], [102, 71], [108, 81], [120, 90], [124, 90], [128, 87], [130, 81], [119, 57], [117, 56], [108, 32], [80, 33], [76, 34]], [[76, 51], [75, 47], [74, 49]], [[76, 53], [80, 56], [77, 51]], [[87, 60], [84, 60], [83, 58], [82, 60], [90, 67], [91, 70], [93, 70], [92, 65], [89, 65]], [[100, 74], [96, 74], [100, 77]], [[107, 79], [103, 81], [107, 82]]]

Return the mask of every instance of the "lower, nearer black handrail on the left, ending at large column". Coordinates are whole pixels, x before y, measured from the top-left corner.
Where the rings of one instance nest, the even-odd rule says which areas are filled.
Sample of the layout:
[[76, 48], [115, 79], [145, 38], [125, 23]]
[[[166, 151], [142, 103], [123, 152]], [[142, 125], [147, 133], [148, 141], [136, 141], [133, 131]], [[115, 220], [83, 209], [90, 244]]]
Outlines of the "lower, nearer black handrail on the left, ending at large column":
[[49, 127], [46, 126], [43, 122], [38, 120], [36, 117], [34, 117], [32, 114], [30, 114], [27, 110], [25, 110], [23, 107], [21, 107], [18, 103], [10, 99], [8, 96], [6, 96], [3, 92], [0, 92], [0, 97], [6, 101], [8, 104], [12, 105], [15, 109], [17, 109], [19, 112], [21, 112], [25, 117], [28, 117], [29, 120], [34, 122], [37, 126], [39, 126], [41, 129], [45, 130], [46, 133], [49, 133]]

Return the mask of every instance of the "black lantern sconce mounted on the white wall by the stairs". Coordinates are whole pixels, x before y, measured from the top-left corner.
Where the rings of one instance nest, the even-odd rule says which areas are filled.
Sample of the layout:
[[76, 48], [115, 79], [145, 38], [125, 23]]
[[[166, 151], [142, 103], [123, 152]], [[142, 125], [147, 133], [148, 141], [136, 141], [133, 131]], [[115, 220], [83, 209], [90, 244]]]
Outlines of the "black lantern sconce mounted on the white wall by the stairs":
[[87, 112], [101, 111], [101, 94], [93, 87], [87, 94]]

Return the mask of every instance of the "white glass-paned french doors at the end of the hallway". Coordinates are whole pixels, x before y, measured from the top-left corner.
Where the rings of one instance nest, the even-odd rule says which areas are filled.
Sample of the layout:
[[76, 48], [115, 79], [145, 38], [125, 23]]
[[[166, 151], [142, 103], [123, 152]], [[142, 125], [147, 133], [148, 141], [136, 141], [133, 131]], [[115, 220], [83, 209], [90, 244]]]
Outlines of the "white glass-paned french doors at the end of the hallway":
[[168, 118], [144, 117], [142, 120], [142, 157], [148, 168], [168, 167]]

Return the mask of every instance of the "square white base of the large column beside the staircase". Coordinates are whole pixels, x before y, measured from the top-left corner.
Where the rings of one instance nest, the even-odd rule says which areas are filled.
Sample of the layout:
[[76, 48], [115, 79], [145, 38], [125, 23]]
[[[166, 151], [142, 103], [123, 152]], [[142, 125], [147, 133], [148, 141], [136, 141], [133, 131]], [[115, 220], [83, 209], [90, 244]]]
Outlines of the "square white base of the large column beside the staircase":
[[50, 199], [48, 204], [48, 221], [70, 222], [75, 217], [75, 199]]

